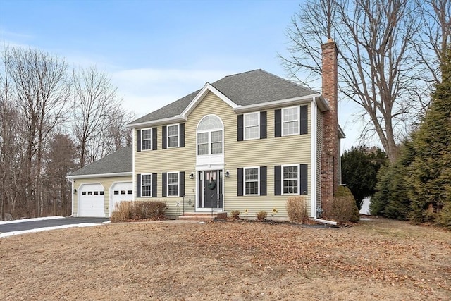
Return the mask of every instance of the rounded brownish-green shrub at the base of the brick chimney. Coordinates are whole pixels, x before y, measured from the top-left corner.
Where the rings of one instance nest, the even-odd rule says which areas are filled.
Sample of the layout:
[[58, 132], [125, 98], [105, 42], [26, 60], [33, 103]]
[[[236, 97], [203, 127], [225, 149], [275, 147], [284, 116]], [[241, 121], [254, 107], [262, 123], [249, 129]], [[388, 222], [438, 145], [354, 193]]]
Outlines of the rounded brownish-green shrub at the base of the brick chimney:
[[360, 220], [359, 209], [349, 188], [339, 186], [330, 207], [330, 218], [338, 225], [345, 225], [348, 221], [357, 223]]

